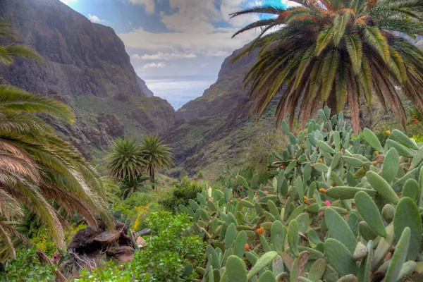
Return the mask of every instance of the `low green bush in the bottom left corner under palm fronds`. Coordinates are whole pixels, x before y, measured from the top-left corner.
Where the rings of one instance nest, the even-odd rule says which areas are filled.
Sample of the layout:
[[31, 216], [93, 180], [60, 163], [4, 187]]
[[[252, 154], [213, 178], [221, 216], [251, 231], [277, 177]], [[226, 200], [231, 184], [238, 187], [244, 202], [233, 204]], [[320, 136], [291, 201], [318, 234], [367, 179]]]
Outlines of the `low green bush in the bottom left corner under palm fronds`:
[[56, 266], [39, 262], [36, 247], [24, 248], [16, 253], [16, 259], [8, 261], [0, 281], [50, 282], [56, 278], [54, 269]]

